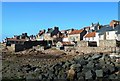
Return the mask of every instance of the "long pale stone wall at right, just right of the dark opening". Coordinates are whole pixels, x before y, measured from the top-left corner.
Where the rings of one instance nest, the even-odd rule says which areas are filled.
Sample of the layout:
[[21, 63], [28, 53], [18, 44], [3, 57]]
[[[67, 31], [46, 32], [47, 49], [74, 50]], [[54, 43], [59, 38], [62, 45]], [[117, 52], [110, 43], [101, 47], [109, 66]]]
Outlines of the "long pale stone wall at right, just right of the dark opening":
[[116, 47], [116, 40], [100, 40], [100, 47]]

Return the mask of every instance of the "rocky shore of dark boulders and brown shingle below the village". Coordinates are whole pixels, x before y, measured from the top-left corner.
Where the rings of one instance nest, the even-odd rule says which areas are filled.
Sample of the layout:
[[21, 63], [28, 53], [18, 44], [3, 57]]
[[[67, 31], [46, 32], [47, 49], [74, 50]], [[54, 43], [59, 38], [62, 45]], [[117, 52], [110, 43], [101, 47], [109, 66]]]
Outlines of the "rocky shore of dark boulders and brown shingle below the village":
[[23, 52], [3, 54], [4, 80], [66, 81], [71, 66], [74, 67], [76, 81], [120, 80], [120, 58], [110, 53], [68, 55], [58, 50]]

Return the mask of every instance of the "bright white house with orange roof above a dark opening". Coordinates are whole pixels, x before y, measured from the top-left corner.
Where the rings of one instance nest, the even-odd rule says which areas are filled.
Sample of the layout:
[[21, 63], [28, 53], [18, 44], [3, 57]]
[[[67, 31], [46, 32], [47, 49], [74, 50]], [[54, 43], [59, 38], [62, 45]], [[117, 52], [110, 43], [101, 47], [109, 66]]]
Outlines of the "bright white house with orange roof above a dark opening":
[[96, 32], [87, 33], [83, 40], [88, 41], [88, 46], [99, 46], [99, 36]]

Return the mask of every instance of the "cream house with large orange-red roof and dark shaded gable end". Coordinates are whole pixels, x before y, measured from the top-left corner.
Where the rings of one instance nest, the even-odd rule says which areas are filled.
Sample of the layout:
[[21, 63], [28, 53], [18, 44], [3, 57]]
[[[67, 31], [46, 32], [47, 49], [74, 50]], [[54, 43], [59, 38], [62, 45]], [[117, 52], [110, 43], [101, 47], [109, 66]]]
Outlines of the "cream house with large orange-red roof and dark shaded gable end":
[[72, 42], [73, 42], [73, 41], [81, 41], [81, 40], [83, 40], [83, 36], [84, 36], [86, 33], [87, 33], [87, 31], [84, 30], [84, 29], [74, 30], [74, 31], [72, 31], [72, 32], [69, 34], [68, 38], [69, 38], [69, 40], [72, 41]]

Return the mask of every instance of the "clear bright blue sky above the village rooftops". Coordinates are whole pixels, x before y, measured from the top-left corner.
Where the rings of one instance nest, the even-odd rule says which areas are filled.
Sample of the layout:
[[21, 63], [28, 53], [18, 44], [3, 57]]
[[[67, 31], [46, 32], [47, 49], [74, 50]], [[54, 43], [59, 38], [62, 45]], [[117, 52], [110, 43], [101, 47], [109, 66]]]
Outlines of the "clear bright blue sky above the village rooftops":
[[[3, 2], [2, 39], [39, 30], [81, 29], [91, 23], [109, 24], [118, 20], [117, 2]], [[1, 39], [0, 39], [1, 40]]]

